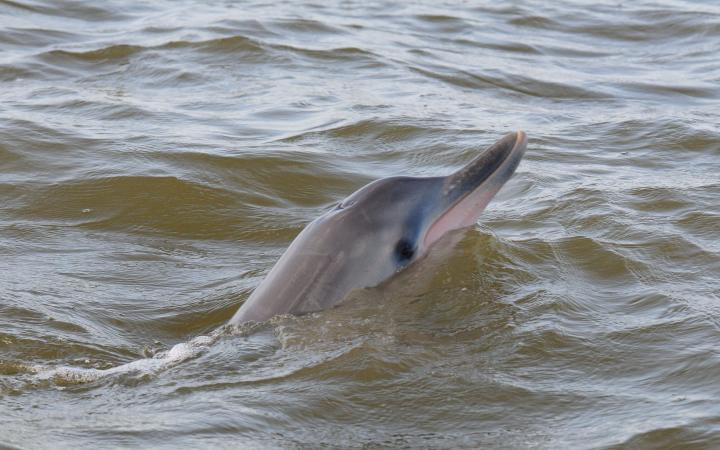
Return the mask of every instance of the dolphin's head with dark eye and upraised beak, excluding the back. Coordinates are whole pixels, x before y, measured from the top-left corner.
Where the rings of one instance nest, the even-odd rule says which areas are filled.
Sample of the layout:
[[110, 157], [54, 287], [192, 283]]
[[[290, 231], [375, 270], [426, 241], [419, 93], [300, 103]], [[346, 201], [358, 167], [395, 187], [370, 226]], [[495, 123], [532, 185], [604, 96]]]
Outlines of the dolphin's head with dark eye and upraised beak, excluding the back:
[[375, 181], [313, 225], [334, 237], [328, 239], [331, 248], [400, 270], [448, 231], [474, 224], [515, 172], [526, 144], [519, 131], [448, 176]]

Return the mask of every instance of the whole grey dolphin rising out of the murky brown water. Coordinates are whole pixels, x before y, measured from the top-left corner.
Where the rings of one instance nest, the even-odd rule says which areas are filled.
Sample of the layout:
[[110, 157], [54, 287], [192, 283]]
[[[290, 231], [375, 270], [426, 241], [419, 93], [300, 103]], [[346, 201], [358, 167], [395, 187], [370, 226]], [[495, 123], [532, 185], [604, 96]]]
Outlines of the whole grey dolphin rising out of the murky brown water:
[[330, 308], [389, 279], [449, 231], [475, 224], [526, 145], [525, 133], [510, 133], [446, 177], [384, 178], [356, 191], [295, 238], [230, 324]]

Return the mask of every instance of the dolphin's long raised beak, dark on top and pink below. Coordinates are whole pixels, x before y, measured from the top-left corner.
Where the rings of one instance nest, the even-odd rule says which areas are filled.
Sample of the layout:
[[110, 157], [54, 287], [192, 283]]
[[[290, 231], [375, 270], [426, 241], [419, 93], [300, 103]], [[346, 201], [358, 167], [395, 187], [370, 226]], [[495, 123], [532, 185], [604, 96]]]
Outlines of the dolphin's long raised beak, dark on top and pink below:
[[[502, 151], [503, 144], [508, 144], [503, 141], [510, 136], [514, 136], [515, 138], [510, 150], [504, 151], [500, 157], [493, 158], [493, 156], [496, 156], [493, 155], [494, 152]], [[525, 132], [518, 130], [512, 135], [506, 136], [505, 139], [488, 148], [478, 156], [476, 160], [455, 174], [450, 175], [458, 179], [445, 187], [444, 193], [447, 196], [453, 195], [452, 191], [455, 189], [465, 188], [462, 184], [463, 182], [467, 182], [468, 178], [472, 179], [474, 176], [479, 176], [480, 179], [471, 181], [473, 183], [472, 186], [464, 189], [464, 192], [460, 194], [458, 198], [454, 199], [452, 203], [433, 220], [425, 232], [424, 243], [426, 246], [429, 247], [432, 245], [440, 236], [449, 230], [465, 228], [475, 223], [485, 209], [485, 206], [487, 206], [505, 182], [510, 179], [517, 165], [520, 163], [521, 158], [518, 157], [518, 153], [520, 153], [519, 156], [522, 156], [522, 152], [524, 152], [527, 145], [527, 135]], [[509, 165], [508, 161], [510, 161]], [[488, 171], [488, 169], [490, 170]], [[507, 172], [505, 179], [496, 179], [497, 177], [495, 177], [495, 175], [503, 170]], [[487, 187], [485, 192], [481, 192], [481, 188], [483, 187]], [[473, 194], [477, 194], [477, 198], [474, 199], [475, 201], [469, 201]], [[462, 211], [462, 209], [466, 209], [466, 211]]]

